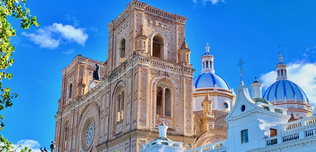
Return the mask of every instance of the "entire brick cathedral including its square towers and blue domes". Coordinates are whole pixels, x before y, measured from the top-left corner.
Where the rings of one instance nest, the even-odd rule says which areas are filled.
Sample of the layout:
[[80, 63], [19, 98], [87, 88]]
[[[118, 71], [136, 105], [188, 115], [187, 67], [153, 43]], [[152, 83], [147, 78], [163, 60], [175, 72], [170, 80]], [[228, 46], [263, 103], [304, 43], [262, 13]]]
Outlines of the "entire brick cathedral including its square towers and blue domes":
[[[208, 43], [201, 74], [193, 77], [186, 20], [133, 0], [107, 25], [105, 62], [79, 54], [62, 69], [56, 151], [138, 152], [156, 140], [177, 141], [171, 144], [183, 151], [228, 138], [236, 94], [215, 73]], [[279, 58], [276, 83], [262, 96], [255, 79], [252, 102], [289, 108], [292, 121], [311, 116], [308, 98]]]

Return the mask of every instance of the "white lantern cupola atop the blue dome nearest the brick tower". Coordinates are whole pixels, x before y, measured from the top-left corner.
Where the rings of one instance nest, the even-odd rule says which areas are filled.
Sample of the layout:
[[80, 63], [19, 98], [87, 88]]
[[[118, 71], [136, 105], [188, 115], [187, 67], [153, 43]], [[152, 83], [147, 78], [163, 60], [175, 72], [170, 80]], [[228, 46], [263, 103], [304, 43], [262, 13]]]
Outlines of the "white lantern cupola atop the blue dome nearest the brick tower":
[[208, 42], [206, 43], [205, 49], [206, 49], [206, 51], [201, 58], [202, 59], [202, 71], [201, 71], [201, 73], [215, 73], [214, 64], [213, 64], [214, 57], [210, 53], [210, 47], [209, 47]]

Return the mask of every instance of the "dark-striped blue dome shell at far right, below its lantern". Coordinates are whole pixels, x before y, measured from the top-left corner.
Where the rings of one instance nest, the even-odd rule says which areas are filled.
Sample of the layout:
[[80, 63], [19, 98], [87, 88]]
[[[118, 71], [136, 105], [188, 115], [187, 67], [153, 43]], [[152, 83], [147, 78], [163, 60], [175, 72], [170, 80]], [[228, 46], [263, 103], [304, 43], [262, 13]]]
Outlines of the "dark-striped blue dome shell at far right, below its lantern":
[[265, 91], [263, 98], [271, 102], [274, 101], [274, 97], [276, 100], [284, 99], [284, 95], [286, 95], [286, 99], [294, 100], [296, 95], [297, 100], [308, 101], [305, 92], [289, 80], [276, 81]]

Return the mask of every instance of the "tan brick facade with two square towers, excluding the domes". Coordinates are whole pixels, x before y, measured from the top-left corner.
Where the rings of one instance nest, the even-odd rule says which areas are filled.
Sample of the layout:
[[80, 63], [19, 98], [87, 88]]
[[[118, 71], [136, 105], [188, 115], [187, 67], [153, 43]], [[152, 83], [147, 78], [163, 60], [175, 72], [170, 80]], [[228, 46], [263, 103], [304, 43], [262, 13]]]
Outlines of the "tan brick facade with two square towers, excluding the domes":
[[[62, 70], [57, 151], [139, 151], [158, 137], [162, 120], [168, 138], [186, 147], [196, 142], [185, 21], [132, 1], [107, 26], [106, 62], [78, 55]], [[185, 58], [180, 60], [179, 51]], [[100, 66], [101, 81], [89, 90], [94, 64]]]

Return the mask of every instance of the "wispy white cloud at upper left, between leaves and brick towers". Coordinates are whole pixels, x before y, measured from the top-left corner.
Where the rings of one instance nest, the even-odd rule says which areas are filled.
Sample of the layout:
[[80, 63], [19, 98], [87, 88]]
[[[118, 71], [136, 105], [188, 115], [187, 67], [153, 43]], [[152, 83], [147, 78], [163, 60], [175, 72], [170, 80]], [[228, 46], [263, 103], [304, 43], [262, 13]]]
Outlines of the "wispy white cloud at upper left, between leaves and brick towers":
[[72, 25], [63, 25], [62, 23], [53, 23], [36, 30], [34, 33], [22, 32], [22, 35], [29, 37], [35, 44], [40, 47], [54, 49], [59, 46], [63, 40], [76, 42], [82, 46], [88, 39], [85, 28], [75, 28]]

